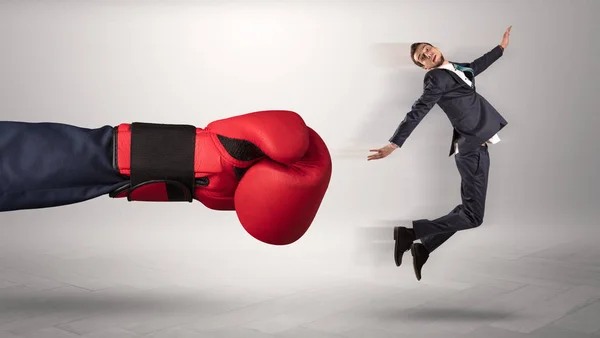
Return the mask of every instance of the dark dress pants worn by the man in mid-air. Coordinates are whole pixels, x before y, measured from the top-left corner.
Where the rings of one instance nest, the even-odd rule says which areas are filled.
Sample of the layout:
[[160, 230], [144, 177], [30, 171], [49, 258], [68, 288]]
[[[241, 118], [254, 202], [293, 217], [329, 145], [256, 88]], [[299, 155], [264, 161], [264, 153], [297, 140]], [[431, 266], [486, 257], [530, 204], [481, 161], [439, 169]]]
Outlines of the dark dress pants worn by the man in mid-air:
[[440, 218], [413, 221], [417, 239], [429, 252], [457, 231], [472, 229], [483, 223], [490, 168], [488, 146], [486, 144], [464, 154], [459, 152], [454, 159], [461, 177], [462, 203]]

